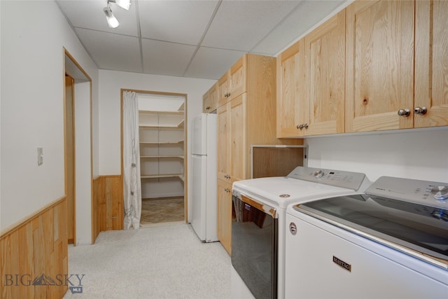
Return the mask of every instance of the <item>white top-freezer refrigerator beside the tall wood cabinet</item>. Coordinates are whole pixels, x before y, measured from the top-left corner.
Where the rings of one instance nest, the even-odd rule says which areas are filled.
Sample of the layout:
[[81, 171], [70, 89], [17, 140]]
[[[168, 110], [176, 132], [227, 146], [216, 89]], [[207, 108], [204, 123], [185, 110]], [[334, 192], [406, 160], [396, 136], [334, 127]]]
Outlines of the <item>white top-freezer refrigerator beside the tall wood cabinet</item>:
[[216, 114], [213, 113], [201, 113], [193, 119], [191, 225], [202, 242], [218, 241], [216, 122]]

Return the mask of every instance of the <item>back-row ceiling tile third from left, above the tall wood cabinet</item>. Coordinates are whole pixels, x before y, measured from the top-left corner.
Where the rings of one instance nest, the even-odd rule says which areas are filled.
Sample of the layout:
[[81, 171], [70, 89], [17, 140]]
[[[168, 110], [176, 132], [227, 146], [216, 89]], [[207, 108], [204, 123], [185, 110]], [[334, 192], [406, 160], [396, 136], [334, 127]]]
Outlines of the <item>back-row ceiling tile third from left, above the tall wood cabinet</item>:
[[218, 80], [245, 52], [200, 47], [185, 76]]

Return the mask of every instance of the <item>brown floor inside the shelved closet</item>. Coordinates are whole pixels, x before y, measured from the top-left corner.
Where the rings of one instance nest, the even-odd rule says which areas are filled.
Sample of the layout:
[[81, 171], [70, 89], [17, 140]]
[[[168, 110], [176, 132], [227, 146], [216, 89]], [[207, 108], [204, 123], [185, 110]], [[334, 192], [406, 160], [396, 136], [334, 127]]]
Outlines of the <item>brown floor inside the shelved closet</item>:
[[141, 225], [184, 220], [183, 196], [141, 200]]

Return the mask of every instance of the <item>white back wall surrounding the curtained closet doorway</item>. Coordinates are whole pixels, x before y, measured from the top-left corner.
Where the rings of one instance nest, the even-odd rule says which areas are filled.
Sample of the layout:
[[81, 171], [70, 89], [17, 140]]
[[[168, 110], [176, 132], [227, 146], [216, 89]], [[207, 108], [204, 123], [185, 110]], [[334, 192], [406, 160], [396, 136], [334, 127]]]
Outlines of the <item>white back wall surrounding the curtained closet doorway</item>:
[[[191, 120], [202, 112], [202, 95], [216, 81], [173, 76], [135, 74], [123, 71], [99, 70], [99, 174], [121, 173], [120, 153], [120, 89], [151, 90], [187, 94], [187, 132]], [[190, 134], [187, 135], [187, 153], [190, 153]], [[188, 160], [188, 177], [191, 175]], [[191, 198], [191, 180], [188, 181], [188, 197]], [[191, 201], [189, 201], [188, 210]]]

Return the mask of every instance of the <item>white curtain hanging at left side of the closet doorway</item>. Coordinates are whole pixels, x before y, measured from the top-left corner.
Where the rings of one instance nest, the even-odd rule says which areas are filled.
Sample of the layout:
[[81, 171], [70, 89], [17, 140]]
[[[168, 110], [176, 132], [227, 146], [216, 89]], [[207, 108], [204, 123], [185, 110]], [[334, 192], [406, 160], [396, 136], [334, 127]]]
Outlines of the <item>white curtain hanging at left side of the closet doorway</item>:
[[141, 183], [140, 183], [140, 139], [139, 106], [137, 93], [123, 93], [123, 195], [125, 204], [125, 230], [131, 226], [140, 228]]

